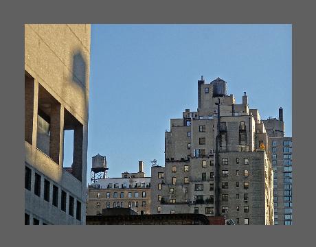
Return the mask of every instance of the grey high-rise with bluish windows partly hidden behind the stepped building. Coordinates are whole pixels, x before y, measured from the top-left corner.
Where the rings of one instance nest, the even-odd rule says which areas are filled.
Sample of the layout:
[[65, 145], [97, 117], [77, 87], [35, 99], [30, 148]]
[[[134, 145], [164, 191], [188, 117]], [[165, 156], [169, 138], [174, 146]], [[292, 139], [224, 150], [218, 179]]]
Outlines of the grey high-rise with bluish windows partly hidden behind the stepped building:
[[292, 137], [284, 137], [283, 109], [279, 118], [264, 120], [273, 168], [274, 224], [292, 224]]

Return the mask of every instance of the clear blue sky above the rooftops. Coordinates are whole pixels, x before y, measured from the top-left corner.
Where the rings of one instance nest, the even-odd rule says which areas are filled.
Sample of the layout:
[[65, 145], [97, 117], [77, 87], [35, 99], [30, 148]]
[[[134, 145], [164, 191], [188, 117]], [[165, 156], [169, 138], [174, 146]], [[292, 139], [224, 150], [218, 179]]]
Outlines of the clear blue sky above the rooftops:
[[[91, 25], [89, 143], [109, 177], [164, 165], [170, 118], [197, 108], [197, 80], [220, 77], [237, 104], [243, 92], [262, 119], [284, 108], [292, 135], [291, 25]], [[66, 157], [67, 158], [67, 157]]]

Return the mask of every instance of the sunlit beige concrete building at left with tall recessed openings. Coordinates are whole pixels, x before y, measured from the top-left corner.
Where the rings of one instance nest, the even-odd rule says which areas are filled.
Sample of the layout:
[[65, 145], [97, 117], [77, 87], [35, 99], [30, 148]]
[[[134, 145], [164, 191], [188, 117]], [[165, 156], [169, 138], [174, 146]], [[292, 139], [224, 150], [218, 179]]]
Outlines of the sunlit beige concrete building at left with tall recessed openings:
[[89, 65], [90, 25], [25, 25], [25, 224], [85, 224]]

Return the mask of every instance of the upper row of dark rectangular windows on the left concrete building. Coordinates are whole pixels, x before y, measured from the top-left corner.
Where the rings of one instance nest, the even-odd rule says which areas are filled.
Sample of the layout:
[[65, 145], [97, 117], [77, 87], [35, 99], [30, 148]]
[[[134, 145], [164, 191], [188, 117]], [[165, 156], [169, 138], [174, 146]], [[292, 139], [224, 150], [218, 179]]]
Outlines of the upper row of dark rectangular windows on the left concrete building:
[[[31, 191], [32, 170], [25, 166], [25, 189]], [[50, 198], [50, 182], [44, 178], [44, 195], [43, 199], [49, 202]], [[52, 204], [58, 208], [58, 191], [59, 188], [53, 185]], [[35, 172], [34, 176], [34, 194], [41, 197], [41, 175]], [[60, 210], [66, 212], [67, 192], [61, 190]], [[74, 197], [69, 195], [68, 214], [74, 216]], [[81, 220], [81, 202], [77, 200], [76, 219]]]

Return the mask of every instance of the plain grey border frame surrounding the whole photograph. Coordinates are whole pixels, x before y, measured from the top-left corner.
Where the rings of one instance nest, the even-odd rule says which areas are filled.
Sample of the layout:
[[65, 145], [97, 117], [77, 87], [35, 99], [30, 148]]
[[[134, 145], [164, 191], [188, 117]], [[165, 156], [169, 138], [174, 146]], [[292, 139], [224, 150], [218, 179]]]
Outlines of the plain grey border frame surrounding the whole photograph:
[[[58, 2], [60, 3], [58, 5]], [[315, 205], [311, 158], [315, 132], [312, 71], [315, 70], [315, 4], [313, 1], [11, 1], [1, 8], [1, 165], [5, 231], [10, 245], [56, 243], [89, 246], [172, 245], [234, 246], [311, 241]], [[293, 226], [23, 226], [23, 67], [24, 23], [292, 23], [293, 24]], [[20, 83], [19, 83], [20, 82]], [[308, 82], [312, 82], [308, 84]], [[91, 82], [93, 83], [93, 82]], [[309, 114], [305, 114], [309, 113]], [[305, 116], [308, 116], [306, 119]], [[311, 119], [310, 119], [311, 118]], [[308, 120], [304, 124], [302, 120]], [[305, 121], [306, 121], [305, 120]], [[308, 155], [309, 154], [309, 155]], [[3, 161], [2, 157], [5, 158]], [[299, 163], [300, 161], [300, 163]], [[311, 161], [311, 162], [309, 162]], [[304, 166], [308, 169], [304, 169]], [[308, 172], [305, 172], [308, 171]], [[308, 196], [309, 195], [309, 196]], [[304, 196], [304, 197], [303, 197]], [[308, 196], [308, 197], [307, 197]], [[308, 200], [308, 199], [311, 199]], [[225, 227], [225, 228], [223, 228]], [[246, 228], [247, 227], [247, 228]], [[313, 232], [312, 232], [313, 231]]]

